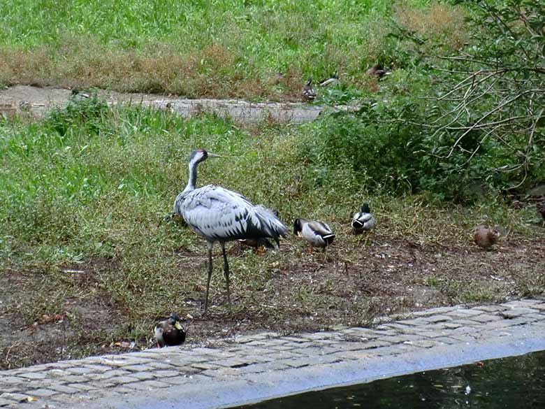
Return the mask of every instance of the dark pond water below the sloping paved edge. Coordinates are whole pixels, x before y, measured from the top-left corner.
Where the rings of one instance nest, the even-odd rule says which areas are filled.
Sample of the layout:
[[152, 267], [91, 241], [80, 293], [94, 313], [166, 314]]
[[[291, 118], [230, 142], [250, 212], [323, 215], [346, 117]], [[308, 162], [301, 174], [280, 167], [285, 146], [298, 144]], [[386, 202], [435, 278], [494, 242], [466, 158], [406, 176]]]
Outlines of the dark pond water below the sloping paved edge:
[[307, 392], [238, 409], [545, 409], [545, 351]]

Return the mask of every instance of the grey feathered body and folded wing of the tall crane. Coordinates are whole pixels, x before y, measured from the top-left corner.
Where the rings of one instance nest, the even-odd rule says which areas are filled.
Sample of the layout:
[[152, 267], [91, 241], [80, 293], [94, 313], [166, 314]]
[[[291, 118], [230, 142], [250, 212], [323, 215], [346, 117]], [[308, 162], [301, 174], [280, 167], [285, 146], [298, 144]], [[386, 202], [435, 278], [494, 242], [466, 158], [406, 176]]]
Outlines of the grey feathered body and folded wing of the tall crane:
[[253, 206], [241, 194], [223, 187], [208, 185], [195, 189], [179, 207], [187, 224], [208, 238], [274, 238], [287, 231], [266, 208]]

